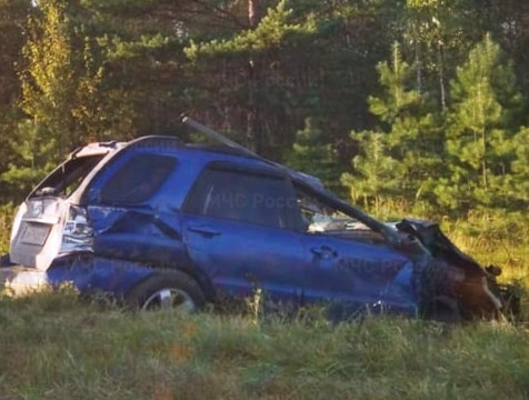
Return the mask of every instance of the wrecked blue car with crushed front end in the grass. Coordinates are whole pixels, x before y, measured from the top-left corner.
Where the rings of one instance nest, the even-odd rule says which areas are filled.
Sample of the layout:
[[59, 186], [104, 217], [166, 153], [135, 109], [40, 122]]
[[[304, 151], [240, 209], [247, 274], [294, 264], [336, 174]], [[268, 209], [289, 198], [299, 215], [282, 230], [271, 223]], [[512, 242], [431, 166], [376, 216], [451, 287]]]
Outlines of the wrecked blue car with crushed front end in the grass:
[[442, 320], [516, 311], [516, 296], [431, 222], [382, 223], [316, 178], [176, 137], [94, 143], [70, 154], [20, 206], [12, 290], [72, 283], [141, 309], [197, 310], [260, 288], [267, 299], [340, 316]]

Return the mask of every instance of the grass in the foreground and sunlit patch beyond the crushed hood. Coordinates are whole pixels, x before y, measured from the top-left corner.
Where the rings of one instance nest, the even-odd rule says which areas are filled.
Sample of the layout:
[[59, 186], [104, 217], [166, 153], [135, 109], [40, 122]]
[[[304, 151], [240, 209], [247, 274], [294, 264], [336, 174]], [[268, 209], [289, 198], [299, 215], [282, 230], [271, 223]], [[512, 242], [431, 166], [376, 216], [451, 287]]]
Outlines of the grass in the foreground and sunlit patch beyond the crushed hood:
[[[528, 287], [525, 223], [443, 229], [481, 262], [503, 267], [502, 280]], [[385, 317], [332, 326], [317, 313], [181, 317], [83, 303], [69, 290], [0, 296], [0, 400], [529, 399], [523, 323], [448, 329]]]

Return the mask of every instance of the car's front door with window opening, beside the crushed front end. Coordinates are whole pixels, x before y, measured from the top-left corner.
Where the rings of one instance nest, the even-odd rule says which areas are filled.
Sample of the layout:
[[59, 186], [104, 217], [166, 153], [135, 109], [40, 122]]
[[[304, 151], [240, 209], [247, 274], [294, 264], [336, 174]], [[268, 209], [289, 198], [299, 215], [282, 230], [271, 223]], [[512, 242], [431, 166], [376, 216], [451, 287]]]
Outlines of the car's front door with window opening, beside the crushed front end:
[[408, 258], [388, 247], [381, 236], [325, 202], [299, 191], [298, 198], [306, 221], [302, 242], [307, 301], [331, 300], [352, 310], [407, 301], [395, 282], [401, 271], [411, 270]]

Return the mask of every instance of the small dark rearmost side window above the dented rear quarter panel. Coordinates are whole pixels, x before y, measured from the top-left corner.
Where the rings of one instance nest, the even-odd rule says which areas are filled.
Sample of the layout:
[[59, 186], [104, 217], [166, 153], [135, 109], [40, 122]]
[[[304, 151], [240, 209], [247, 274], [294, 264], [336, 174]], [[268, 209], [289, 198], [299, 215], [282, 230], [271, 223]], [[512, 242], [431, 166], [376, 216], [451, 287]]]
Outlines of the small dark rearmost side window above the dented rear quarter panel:
[[104, 184], [100, 201], [107, 204], [136, 204], [151, 198], [177, 166], [172, 157], [139, 154], [128, 160]]

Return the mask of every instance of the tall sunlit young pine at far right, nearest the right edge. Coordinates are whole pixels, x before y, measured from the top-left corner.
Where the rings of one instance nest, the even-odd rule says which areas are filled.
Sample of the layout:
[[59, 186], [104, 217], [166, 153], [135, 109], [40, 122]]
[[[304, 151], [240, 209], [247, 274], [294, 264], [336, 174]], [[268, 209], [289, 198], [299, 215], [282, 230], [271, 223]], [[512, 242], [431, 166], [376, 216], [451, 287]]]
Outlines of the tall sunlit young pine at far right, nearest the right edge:
[[451, 82], [450, 178], [436, 189], [455, 209], [507, 206], [521, 96], [512, 63], [487, 34]]

